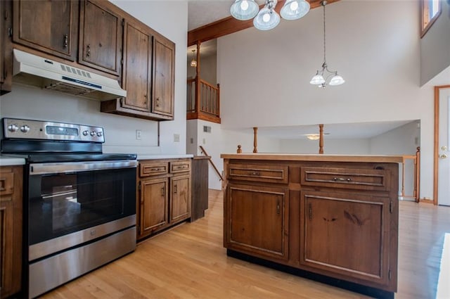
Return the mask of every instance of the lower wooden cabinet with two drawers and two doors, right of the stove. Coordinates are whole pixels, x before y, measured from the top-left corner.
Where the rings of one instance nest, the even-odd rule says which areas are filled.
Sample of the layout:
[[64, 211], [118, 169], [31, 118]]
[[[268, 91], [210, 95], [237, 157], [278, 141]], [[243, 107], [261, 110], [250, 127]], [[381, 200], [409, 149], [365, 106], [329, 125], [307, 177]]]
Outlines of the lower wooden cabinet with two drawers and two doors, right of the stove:
[[139, 162], [138, 240], [191, 217], [191, 159]]

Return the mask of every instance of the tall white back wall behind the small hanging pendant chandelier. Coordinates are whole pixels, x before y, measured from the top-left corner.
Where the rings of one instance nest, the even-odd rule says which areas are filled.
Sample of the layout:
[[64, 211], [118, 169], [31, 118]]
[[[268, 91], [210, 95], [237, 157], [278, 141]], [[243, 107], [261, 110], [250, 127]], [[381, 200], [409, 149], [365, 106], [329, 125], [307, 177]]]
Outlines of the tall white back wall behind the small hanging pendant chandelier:
[[[351, 13], [349, 13], [351, 12]], [[224, 129], [421, 120], [421, 196], [432, 197], [432, 87], [420, 88], [417, 1], [350, 1], [326, 6], [327, 63], [346, 79], [318, 89], [322, 10], [267, 32], [221, 37], [217, 79]]]

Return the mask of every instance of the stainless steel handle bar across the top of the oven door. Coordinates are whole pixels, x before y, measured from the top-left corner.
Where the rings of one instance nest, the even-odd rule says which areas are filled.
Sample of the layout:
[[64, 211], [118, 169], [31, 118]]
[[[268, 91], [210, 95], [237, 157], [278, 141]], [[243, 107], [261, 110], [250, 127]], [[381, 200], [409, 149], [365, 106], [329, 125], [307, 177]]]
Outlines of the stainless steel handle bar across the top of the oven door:
[[137, 165], [138, 161], [136, 160], [32, 163], [30, 164], [30, 175], [136, 168]]

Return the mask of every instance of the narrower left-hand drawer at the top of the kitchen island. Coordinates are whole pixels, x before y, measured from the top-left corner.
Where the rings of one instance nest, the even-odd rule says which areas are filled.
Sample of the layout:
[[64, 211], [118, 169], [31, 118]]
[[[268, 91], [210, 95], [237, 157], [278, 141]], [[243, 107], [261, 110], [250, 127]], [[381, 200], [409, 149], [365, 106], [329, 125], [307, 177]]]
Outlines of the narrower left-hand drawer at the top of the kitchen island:
[[281, 184], [288, 183], [287, 165], [230, 164], [228, 171], [229, 179]]

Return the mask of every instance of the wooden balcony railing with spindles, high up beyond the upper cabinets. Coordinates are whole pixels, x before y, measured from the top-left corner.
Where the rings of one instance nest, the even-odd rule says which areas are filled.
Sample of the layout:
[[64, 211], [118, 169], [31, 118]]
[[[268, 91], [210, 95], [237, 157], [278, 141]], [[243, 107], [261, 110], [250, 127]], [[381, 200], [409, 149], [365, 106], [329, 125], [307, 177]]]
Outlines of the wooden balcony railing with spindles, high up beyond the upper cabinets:
[[220, 123], [220, 84], [217, 87], [203, 79], [187, 81], [186, 118]]

